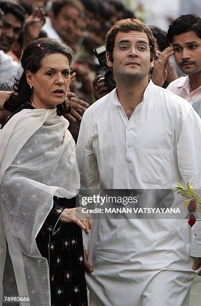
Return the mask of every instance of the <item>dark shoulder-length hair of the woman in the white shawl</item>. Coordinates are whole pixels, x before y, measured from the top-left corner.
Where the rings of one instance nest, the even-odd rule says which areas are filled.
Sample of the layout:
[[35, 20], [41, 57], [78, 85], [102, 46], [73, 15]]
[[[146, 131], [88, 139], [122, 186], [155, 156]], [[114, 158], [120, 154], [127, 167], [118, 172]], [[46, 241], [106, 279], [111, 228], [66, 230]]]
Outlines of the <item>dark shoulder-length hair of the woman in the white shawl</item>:
[[[38, 47], [37, 44], [40, 44], [42, 49]], [[43, 49], [44, 48], [44, 49]], [[59, 39], [53, 38], [40, 38], [29, 42], [22, 53], [21, 56], [21, 65], [23, 68], [23, 73], [19, 79], [15, 80], [12, 92], [7, 101], [4, 103], [4, 108], [13, 111], [18, 108], [20, 105], [30, 101], [32, 96], [32, 89], [26, 80], [26, 70], [31, 72], [37, 72], [42, 64], [42, 59], [48, 54], [61, 53], [68, 57], [69, 65], [72, 64], [74, 59], [73, 50], [64, 42]], [[67, 111], [65, 101], [57, 107], [57, 114], [63, 115]]]

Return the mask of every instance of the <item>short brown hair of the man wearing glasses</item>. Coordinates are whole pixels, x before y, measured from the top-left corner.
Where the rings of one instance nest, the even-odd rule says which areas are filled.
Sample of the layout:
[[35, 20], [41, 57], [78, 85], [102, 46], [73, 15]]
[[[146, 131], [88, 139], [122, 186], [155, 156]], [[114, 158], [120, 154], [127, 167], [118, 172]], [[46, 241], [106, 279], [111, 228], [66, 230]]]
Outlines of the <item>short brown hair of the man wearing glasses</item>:
[[115, 24], [107, 32], [106, 51], [109, 52], [111, 61], [113, 61], [113, 50], [114, 50], [114, 43], [115, 43], [115, 38], [116, 38], [117, 33], [118, 32], [130, 32], [130, 31], [145, 32], [147, 34], [147, 37], [149, 39], [149, 44], [151, 45], [150, 60], [152, 61], [155, 55], [155, 38], [149, 26], [143, 23], [141, 20], [135, 19], [135, 18], [119, 20], [115, 22]]

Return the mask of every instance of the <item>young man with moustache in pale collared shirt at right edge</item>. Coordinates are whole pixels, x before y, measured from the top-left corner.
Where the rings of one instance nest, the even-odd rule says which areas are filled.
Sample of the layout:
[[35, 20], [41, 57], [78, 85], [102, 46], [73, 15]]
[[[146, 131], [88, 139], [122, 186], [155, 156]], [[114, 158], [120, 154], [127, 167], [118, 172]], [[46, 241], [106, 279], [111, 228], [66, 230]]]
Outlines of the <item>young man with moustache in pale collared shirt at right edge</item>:
[[187, 99], [201, 116], [201, 17], [196, 14], [178, 17], [170, 24], [167, 37], [172, 45], [161, 53], [152, 80], [163, 85], [168, 60], [174, 54], [186, 75], [171, 82], [167, 89]]

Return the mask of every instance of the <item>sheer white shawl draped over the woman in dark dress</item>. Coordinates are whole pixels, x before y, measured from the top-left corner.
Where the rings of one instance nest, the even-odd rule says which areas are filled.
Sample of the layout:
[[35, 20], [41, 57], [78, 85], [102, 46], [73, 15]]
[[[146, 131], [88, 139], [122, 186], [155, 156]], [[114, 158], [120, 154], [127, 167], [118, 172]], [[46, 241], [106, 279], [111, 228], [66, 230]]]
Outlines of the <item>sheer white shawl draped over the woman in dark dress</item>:
[[0, 305], [17, 291], [30, 299], [22, 306], [50, 305], [48, 264], [35, 237], [53, 196], [71, 198], [80, 185], [68, 125], [56, 109], [23, 109], [0, 131]]

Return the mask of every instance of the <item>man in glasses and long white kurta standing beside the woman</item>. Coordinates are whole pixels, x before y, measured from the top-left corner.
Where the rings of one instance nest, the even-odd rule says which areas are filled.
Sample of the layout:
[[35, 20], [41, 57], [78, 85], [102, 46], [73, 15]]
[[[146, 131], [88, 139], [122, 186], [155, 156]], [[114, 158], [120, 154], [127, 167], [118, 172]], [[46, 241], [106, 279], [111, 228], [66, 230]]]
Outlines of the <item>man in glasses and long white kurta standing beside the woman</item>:
[[[201, 119], [190, 103], [148, 81], [152, 54], [136, 44], [150, 43], [149, 30], [136, 30], [132, 19], [118, 22], [116, 28], [123, 23], [130, 30], [117, 30], [114, 59], [106, 37], [117, 88], [90, 106], [81, 122], [81, 188], [168, 189], [187, 179], [201, 188]], [[120, 42], [131, 48], [119, 50]], [[192, 255], [201, 254], [199, 238]], [[86, 275], [90, 305], [188, 306], [200, 271], [199, 259], [192, 269], [190, 252], [187, 219], [95, 219], [88, 243], [94, 271]]]

